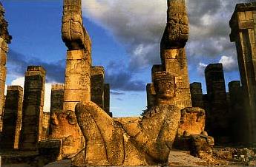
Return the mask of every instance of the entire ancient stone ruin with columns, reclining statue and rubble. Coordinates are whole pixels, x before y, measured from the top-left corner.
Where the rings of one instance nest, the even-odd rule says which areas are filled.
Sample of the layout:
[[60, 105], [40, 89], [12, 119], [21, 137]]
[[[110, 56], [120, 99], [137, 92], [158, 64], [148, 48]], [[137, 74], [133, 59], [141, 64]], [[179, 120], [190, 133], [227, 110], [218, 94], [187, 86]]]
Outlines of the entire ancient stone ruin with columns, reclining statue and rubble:
[[[214, 143], [256, 142], [256, 2], [237, 4], [230, 21], [241, 82], [230, 82], [226, 92], [222, 64], [209, 64], [206, 95], [201, 83], [188, 81], [185, 0], [167, 0], [167, 8], [161, 64], [152, 67], [151, 83], [146, 86], [147, 109], [138, 117], [112, 117], [111, 86], [105, 83], [104, 67], [92, 64], [81, 0], [63, 1], [62, 41], [68, 48], [65, 83], [52, 85], [50, 112], [43, 112], [46, 72], [41, 66], [27, 67], [24, 93], [21, 86], [8, 86], [4, 97], [11, 36], [0, 3], [0, 146], [4, 151], [0, 155], [4, 163], [176, 166], [197, 157], [195, 165], [228, 165], [228, 161], [217, 160], [240, 160], [239, 165], [256, 166], [255, 149], [214, 148]], [[182, 151], [186, 151], [183, 160], [179, 159]]]

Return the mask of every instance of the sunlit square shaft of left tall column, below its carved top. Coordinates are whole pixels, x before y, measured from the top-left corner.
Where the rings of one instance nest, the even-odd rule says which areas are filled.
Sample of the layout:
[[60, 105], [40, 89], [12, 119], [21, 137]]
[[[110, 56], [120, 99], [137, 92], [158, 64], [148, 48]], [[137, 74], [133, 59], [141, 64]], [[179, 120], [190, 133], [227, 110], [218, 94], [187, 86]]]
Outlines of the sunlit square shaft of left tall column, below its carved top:
[[65, 71], [65, 111], [74, 111], [80, 101], [91, 100], [91, 54], [85, 50], [68, 50]]

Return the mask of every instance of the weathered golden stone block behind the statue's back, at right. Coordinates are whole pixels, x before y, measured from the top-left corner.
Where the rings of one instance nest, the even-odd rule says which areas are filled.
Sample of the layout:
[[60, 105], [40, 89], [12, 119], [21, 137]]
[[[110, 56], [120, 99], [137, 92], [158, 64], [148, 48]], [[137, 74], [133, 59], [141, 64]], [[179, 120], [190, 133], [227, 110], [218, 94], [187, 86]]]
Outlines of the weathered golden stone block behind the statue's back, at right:
[[182, 109], [174, 148], [191, 151], [195, 156], [201, 153], [211, 155], [214, 138], [204, 131], [205, 122], [206, 114], [203, 109], [199, 107]]

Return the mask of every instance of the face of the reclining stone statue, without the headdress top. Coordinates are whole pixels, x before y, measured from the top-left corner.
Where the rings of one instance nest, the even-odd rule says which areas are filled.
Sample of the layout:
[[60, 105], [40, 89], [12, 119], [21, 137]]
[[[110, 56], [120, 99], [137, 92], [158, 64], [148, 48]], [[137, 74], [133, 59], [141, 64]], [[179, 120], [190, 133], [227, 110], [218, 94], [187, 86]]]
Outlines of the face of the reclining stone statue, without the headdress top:
[[175, 96], [175, 80], [174, 78], [160, 78], [155, 81], [154, 86], [158, 98], [174, 98]]

